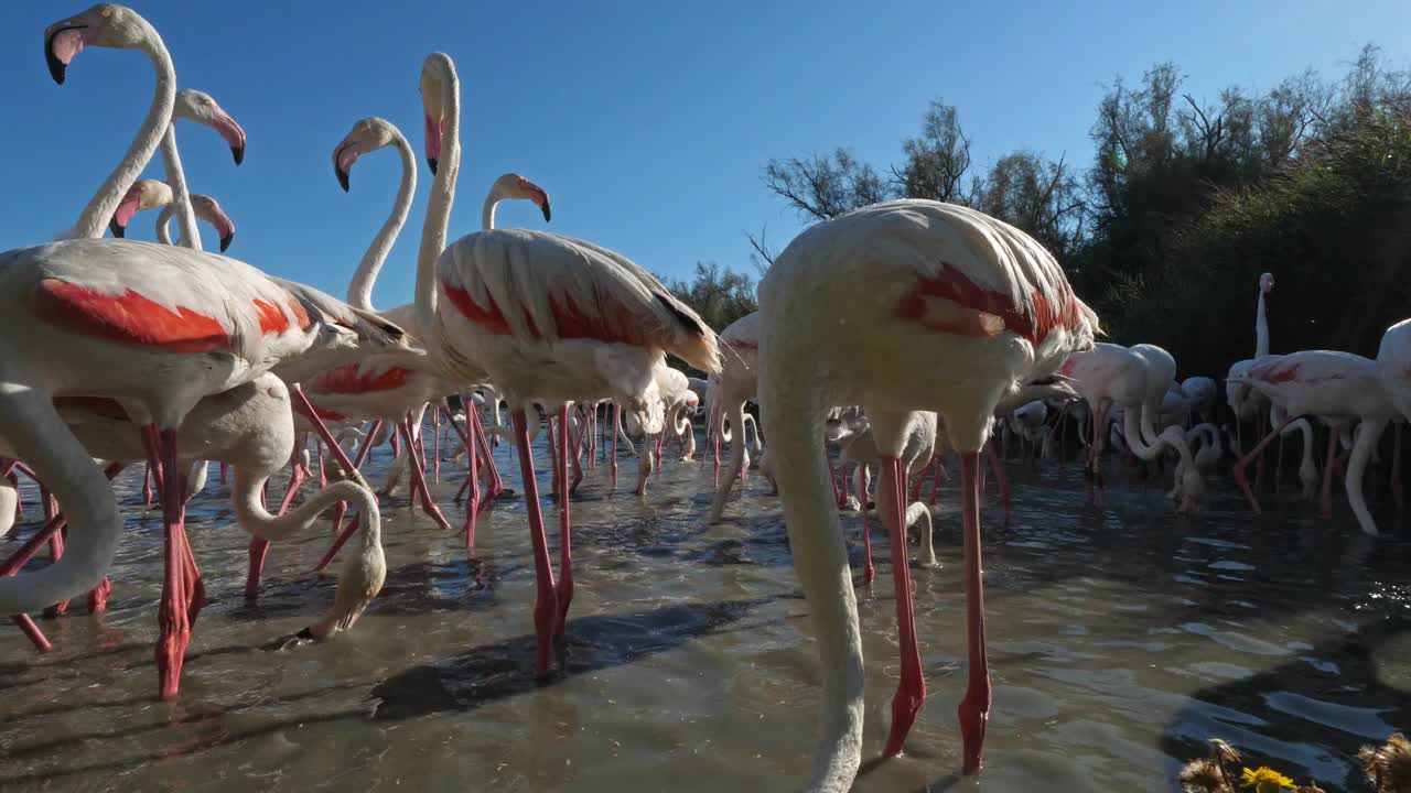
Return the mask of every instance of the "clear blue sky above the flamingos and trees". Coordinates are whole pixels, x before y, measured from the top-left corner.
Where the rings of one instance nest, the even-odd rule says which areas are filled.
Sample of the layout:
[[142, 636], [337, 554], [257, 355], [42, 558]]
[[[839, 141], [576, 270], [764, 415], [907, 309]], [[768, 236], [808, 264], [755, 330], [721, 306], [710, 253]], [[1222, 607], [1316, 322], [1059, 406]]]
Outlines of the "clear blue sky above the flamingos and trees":
[[[776, 247], [799, 231], [759, 179], [770, 157], [842, 144], [886, 165], [935, 96], [959, 107], [978, 164], [1027, 147], [1086, 165], [1103, 83], [1134, 80], [1157, 61], [1177, 61], [1187, 89], [1215, 99], [1226, 85], [1263, 90], [1307, 66], [1340, 75], [1367, 41], [1398, 65], [1411, 59], [1407, 0], [133, 6], [166, 41], [181, 86], [212, 93], [248, 134], [240, 168], [214, 131], [179, 134], [192, 189], [237, 224], [230, 254], [339, 296], [389, 209], [398, 164], [391, 152], [360, 159], [344, 195], [332, 148], [353, 121], [382, 116], [420, 152], [418, 76], [436, 49], [456, 59], [463, 83], [452, 238], [478, 227], [490, 182], [518, 171], [553, 198], [552, 230], [667, 275], [698, 260], [748, 270], [745, 231], [768, 224]], [[49, 79], [44, 28], [86, 7], [0, 7], [0, 250], [69, 227], [151, 100], [151, 65], [134, 52], [92, 48], [66, 85]], [[148, 175], [161, 176], [159, 165]], [[418, 179], [378, 306], [411, 301], [425, 164]], [[533, 206], [516, 205], [502, 206], [501, 226], [545, 227]], [[150, 214], [131, 236], [151, 238]]]

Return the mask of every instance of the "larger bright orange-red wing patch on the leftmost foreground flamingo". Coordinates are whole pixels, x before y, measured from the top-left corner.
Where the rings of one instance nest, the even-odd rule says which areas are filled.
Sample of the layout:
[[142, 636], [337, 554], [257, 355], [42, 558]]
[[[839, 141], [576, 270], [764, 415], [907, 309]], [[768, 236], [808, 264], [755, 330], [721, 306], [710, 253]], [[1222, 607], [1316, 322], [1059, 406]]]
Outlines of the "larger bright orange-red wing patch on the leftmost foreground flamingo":
[[32, 296], [40, 319], [83, 336], [166, 353], [230, 349], [230, 334], [214, 317], [186, 306], [171, 310], [131, 289], [104, 295], [58, 278], [40, 281]]

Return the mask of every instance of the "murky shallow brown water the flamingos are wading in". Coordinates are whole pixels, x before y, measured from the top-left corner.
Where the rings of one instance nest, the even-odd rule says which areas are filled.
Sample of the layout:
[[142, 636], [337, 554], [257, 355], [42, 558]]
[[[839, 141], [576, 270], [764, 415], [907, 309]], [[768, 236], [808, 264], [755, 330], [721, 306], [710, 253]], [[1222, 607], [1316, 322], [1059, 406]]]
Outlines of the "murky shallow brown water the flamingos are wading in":
[[[497, 454], [518, 488], [518, 466]], [[373, 470], [387, 460], [380, 450]], [[1075, 466], [1012, 463], [1007, 528], [991, 484], [995, 703], [976, 779], [954, 773], [965, 680], [955, 480], [941, 487], [943, 566], [912, 571], [930, 698], [907, 753], [882, 763], [866, 761], [886, 738], [897, 656], [886, 542], [875, 535], [878, 579], [858, 590], [868, 703], [855, 790], [1175, 790], [1175, 770], [1208, 737], [1300, 783], [1362, 789], [1357, 746], [1411, 725], [1411, 543], [1360, 535], [1345, 504], [1318, 521], [1291, 488], [1253, 518], [1225, 477], [1212, 480], [1205, 514], [1175, 518], [1158, 488], [1110, 467], [1099, 509]], [[447, 463], [436, 488], [457, 526], [450, 497], [463, 476]], [[384, 501], [388, 580], [363, 621], [330, 642], [271, 649], [333, 597], [333, 577], [309, 573], [327, 521], [271, 549], [260, 600], [247, 604], [248, 536], [213, 467], [188, 512], [207, 605], [181, 698], [164, 704], [151, 649], [161, 521], [126, 474], [109, 612], [90, 618], [76, 601], [69, 617], [41, 619], [55, 645], [45, 656], [13, 628], [0, 642], [4, 789], [794, 789], [809, 768], [818, 663], [777, 500], [752, 476], [728, 521], [706, 526], [710, 463], [669, 459], [645, 500], [631, 494], [635, 461], [619, 477], [614, 494], [605, 464], [590, 468], [573, 501], [567, 673], [539, 687], [522, 501], [497, 504], [470, 553], [405, 498]], [[1379, 485], [1369, 494], [1386, 501]], [[32, 498], [27, 509], [23, 536], [35, 526]], [[555, 515], [545, 500], [550, 531]], [[859, 569], [858, 516], [844, 525]]]

